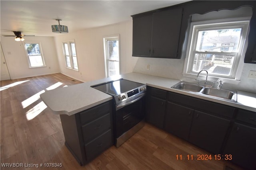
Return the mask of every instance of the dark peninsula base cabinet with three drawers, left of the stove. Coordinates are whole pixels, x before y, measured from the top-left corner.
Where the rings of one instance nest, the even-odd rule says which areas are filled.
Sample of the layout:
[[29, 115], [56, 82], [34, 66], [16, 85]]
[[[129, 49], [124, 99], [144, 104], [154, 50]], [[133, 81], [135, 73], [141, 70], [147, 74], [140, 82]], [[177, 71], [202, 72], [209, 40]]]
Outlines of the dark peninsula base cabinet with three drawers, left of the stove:
[[80, 165], [113, 145], [112, 101], [60, 119], [65, 145]]

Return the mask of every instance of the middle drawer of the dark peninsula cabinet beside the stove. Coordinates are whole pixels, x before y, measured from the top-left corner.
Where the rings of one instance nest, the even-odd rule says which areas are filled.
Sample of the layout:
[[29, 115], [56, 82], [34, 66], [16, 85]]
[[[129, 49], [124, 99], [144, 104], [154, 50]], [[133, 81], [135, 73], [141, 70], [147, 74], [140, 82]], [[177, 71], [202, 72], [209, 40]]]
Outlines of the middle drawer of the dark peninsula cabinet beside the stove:
[[84, 143], [92, 141], [94, 138], [110, 129], [110, 113], [82, 126]]

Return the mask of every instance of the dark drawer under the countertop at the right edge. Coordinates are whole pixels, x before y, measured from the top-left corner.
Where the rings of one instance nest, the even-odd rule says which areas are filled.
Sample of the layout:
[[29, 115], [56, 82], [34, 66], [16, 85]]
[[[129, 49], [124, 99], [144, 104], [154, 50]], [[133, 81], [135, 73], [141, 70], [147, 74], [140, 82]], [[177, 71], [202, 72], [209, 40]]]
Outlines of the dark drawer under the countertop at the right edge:
[[256, 125], [256, 113], [252, 111], [239, 109], [236, 119], [246, 123], [250, 123], [252, 125]]

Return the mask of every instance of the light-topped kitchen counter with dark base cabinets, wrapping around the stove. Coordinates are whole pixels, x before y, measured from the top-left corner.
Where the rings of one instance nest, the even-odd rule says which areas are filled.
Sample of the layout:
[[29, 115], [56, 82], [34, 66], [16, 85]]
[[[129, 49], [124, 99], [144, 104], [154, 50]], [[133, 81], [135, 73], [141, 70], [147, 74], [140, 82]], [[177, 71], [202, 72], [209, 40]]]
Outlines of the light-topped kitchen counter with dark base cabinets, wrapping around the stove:
[[[67, 143], [66, 146], [81, 165], [90, 162], [90, 160], [95, 158], [98, 154], [113, 145], [112, 96], [105, 94], [104, 92], [100, 92], [91, 86], [109, 82], [111, 80], [118, 80], [120, 78], [143, 83], [148, 86], [146, 106], [152, 108], [146, 109], [147, 122], [212, 153], [232, 153], [234, 155], [233, 161], [240, 166], [247, 166], [248, 168], [254, 166], [254, 157], [252, 156], [252, 152], [256, 150], [256, 148], [254, 148], [254, 142], [256, 142], [256, 139], [255, 135], [252, 134], [256, 132], [256, 123], [254, 121], [256, 119], [256, 94], [238, 91], [238, 102], [230, 102], [171, 88], [180, 82], [180, 80], [139, 74], [135, 72], [95, 80], [92, 82], [85, 82], [65, 88], [58, 88], [40, 95], [41, 99], [48, 107], [50, 107], [50, 109], [52, 109], [53, 113], [60, 115], [66, 142], [70, 137], [73, 141], [77, 138], [76, 142], [78, 145], [76, 145], [76, 143], [71, 144], [76, 147], [70, 147]], [[160, 94], [163, 94], [162, 96], [158, 94], [156, 95], [155, 92], [159, 91]], [[157, 100], [150, 100], [151, 96]], [[158, 98], [163, 101], [163, 106], [161, 105], [158, 107], [157, 102], [154, 103], [154, 101], [158, 101]], [[151, 103], [152, 101], [153, 103]], [[182, 101], [192, 101], [194, 106], [186, 103], [183, 104]], [[200, 108], [200, 106], [209, 108]], [[173, 131], [175, 128], [170, 126], [174, 125], [174, 123], [172, 124], [171, 122], [173, 122], [175, 118], [173, 117], [173, 111], [171, 111], [171, 109], [176, 107], [178, 109], [176, 109], [174, 113], [178, 114], [178, 116], [183, 114], [183, 112], [179, 113], [178, 111], [184, 110], [184, 108], [184, 112], [188, 109], [188, 115], [191, 116], [191, 120], [188, 121], [190, 126], [186, 129], [186, 132], [180, 133]], [[214, 108], [214, 111], [207, 110], [211, 109], [211, 107]], [[152, 110], [158, 111], [158, 108], [162, 111], [162, 123], [159, 123], [161, 121], [154, 122], [150, 119], [150, 117], [154, 116], [160, 119], [160, 112], [159, 114], [157, 113], [156, 115], [152, 115], [154, 114], [152, 113]], [[94, 113], [99, 114], [99, 116], [92, 118], [90, 115], [93, 115]], [[86, 120], [86, 116], [89, 116], [88, 120]], [[193, 121], [192, 117], [194, 117]], [[199, 119], [196, 119], [197, 117], [199, 117]], [[86, 127], [90, 127], [89, 125], [95, 124], [96, 129], [101, 127], [101, 124], [98, 125], [96, 123], [98, 121], [103, 122], [102, 126], [105, 128], [99, 132], [99, 136], [91, 137], [90, 134], [88, 135], [88, 133], [85, 133]], [[176, 121], [179, 121], [179, 119]], [[181, 125], [184, 123], [182, 121], [183, 119], [180, 119]], [[205, 140], [209, 140], [210, 142], [204, 142], [202, 140], [201, 142], [196, 141], [196, 139], [200, 139], [200, 133], [198, 133], [196, 129], [198, 126], [204, 126], [204, 123], [209, 124], [208, 121], [210, 121], [209, 123], [215, 123], [210, 127], [204, 128], [204, 133], [212, 134], [210, 137], [211, 139], [204, 137]], [[65, 123], [68, 123], [68, 126], [66, 126]], [[218, 128], [215, 128], [215, 126]], [[237, 136], [237, 134], [233, 133], [234, 129], [242, 130], [242, 134], [239, 135], [238, 133]], [[221, 134], [219, 134], [220, 131], [222, 132]], [[204, 133], [202, 135], [204, 135]], [[190, 136], [188, 136], [188, 134], [190, 134]], [[244, 134], [249, 136], [244, 136]], [[240, 138], [246, 140], [240, 141]], [[218, 139], [218, 141], [215, 141], [215, 139]], [[102, 143], [100, 141], [107, 142]], [[238, 143], [234, 143], [234, 141], [238, 141]], [[248, 141], [248, 143], [246, 141]], [[205, 143], [208, 143], [208, 145], [204, 145]], [[215, 145], [216, 143], [218, 143], [218, 146], [212, 147], [212, 144]], [[252, 146], [248, 147], [248, 145]], [[98, 149], [100, 147], [103, 148]], [[242, 151], [237, 150], [233, 152], [234, 148], [241, 148]], [[241, 154], [241, 152], [247, 152], [248, 158], [241, 158], [241, 156], [244, 155]]]

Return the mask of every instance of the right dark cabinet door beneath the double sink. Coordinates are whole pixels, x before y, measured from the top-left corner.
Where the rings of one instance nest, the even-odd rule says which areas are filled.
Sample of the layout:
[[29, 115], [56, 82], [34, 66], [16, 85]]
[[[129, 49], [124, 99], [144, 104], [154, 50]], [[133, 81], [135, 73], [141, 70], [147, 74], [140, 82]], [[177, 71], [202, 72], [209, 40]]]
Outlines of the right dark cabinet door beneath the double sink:
[[229, 124], [229, 120], [194, 111], [189, 141], [209, 152], [220, 154]]

